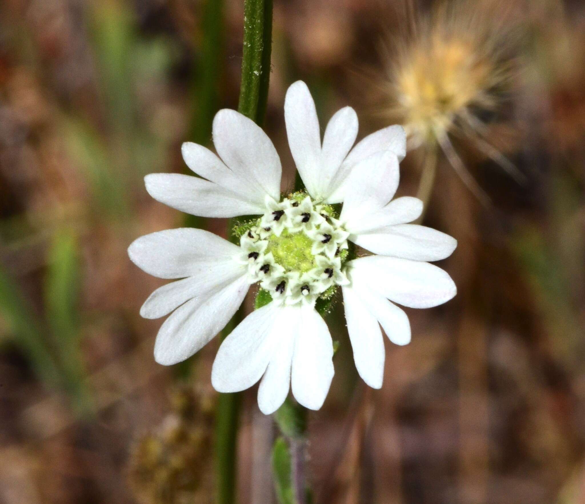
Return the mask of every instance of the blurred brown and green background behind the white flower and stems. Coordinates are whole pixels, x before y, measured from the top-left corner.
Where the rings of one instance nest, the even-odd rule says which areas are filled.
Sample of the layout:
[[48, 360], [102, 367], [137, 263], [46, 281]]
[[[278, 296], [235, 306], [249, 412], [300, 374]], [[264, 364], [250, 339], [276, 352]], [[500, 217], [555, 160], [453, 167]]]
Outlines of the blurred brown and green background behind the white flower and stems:
[[[473, 9], [469, 9], [472, 5]], [[181, 172], [237, 108], [241, 0], [0, 5], [0, 502], [214, 502], [219, 341], [154, 363], [161, 285], [130, 263], [185, 220], [142, 178]], [[322, 129], [409, 133], [400, 195], [459, 240], [459, 294], [407, 310], [380, 391], [357, 378], [342, 304], [324, 408], [309, 420], [316, 503], [585, 503], [585, 5], [580, 0], [274, 0], [264, 128], [294, 182], [285, 91]], [[249, 300], [249, 305], [250, 305]], [[242, 395], [238, 495], [274, 501], [270, 417]]]

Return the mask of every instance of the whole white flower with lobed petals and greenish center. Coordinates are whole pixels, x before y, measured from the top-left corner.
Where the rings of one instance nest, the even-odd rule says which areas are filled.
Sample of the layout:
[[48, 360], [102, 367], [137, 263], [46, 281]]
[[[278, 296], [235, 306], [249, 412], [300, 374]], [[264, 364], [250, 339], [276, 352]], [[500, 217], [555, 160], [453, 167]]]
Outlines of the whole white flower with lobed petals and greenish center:
[[[356, 367], [380, 388], [384, 342], [406, 344], [410, 326], [393, 304], [440, 305], [456, 294], [445, 271], [425, 261], [448, 257], [456, 241], [407, 224], [422, 202], [403, 197], [398, 163], [405, 155], [400, 126], [370, 134], [353, 147], [357, 116], [337, 112], [321, 142], [315, 105], [303, 82], [288, 89], [288, 142], [307, 188], [281, 198], [280, 158], [266, 134], [238, 112], [222, 110], [213, 123], [216, 156], [183, 144], [185, 163], [202, 178], [152, 174], [153, 198], [193, 215], [256, 215], [240, 230], [239, 246], [201, 229], [173, 229], [140, 237], [128, 249], [134, 263], [160, 278], [178, 279], [153, 292], [140, 314], [171, 315], [154, 346], [161, 364], [194, 354], [228, 323], [251, 284], [270, 294], [223, 341], [212, 369], [220, 392], [236, 392], [260, 380], [258, 403], [266, 413], [288, 391], [301, 405], [321, 408], [333, 378], [329, 330], [315, 310], [319, 299], [343, 292]], [[340, 214], [335, 203], [343, 203]], [[348, 243], [348, 241], [350, 243]], [[355, 243], [375, 256], [355, 258]], [[180, 279], [179, 279], [180, 278]]]

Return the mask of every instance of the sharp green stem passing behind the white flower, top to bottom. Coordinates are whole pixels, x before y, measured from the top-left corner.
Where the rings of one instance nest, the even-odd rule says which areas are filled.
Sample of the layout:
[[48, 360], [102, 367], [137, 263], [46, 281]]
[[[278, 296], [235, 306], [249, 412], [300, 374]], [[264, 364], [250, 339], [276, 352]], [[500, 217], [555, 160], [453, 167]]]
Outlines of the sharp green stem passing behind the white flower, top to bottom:
[[[242, 82], [238, 111], [261, 125], [266, 112], [272, 46], [272, 0], [246, 0], [244, 5], [244, 42]], [[228, 223], [228, 233], [232, 230]], [[226, 336], [243, 319], [243, 309], [223, 330]], [[235, 502], [236, 444], [238, 436], [239, 395], [220, 394], [216, 415], [215, 467], [218, 504]]]

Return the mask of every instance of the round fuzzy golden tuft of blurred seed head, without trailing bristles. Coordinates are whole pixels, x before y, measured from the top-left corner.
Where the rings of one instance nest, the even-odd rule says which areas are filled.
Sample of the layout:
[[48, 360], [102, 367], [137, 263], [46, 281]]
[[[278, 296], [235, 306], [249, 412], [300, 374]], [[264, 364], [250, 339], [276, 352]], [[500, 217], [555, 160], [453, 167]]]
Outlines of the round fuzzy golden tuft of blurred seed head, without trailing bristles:
[[[386, 115], [404, 125], [410, 147], [476, 129], [477, 112], [494, 112], [510, 78], [501, 43], [505, 30], [473, 2], [456, 2], [427, 19], [388, 54]], [[501, 17], [501, 16], [500, 16]]]

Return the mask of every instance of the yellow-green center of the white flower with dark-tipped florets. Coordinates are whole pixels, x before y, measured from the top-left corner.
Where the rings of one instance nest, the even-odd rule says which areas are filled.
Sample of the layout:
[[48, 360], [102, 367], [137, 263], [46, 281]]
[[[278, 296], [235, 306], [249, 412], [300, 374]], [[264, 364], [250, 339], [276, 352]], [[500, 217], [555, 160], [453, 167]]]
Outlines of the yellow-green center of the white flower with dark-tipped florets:
[[240, 261], [273, 300], [315, 303], [347, 284], [347, 236], [333, 208], [304, 193], [267, 199], [266, 213], [242, 234]]

